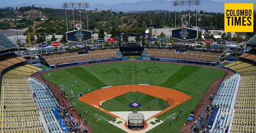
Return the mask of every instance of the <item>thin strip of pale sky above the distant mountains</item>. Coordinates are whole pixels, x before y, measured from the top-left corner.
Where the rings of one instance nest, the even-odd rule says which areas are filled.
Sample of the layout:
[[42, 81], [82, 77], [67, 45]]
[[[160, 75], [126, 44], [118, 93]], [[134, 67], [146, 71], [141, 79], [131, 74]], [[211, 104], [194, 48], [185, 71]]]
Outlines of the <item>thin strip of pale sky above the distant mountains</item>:
[[[127, 2], [127, 3], [134, 3], [134, 2], [139, 2], [139, 1], [143, 1], [143, 0], [0, 0], [1, 4], [0, 7], [4, 7], [4, 6], [13, 6], [16, 4], [22, 4], [22, 3], [31, 3], [35, 4], [35, 6], [37, 4], [47, 4], [47, 5], [61, 5], [61, 2], [89, 2], [90, 5], [95, 5], [95, 4], [108, 4], [108, 5], [113, 5], [113, 4], [118, 4], [118, 3], [123, 3], [123, 2]], [[151, 0], [147, 0], [147, 1], [151, 1]], [[170, 1], [170, 0], [167, 0]], [[204, 0], [201, 0], [204, 1]], [[255, 0], [211, 0], [211, 1], [217, 1], [217, 2], [223, 2], [223, 3], [254, 3], [256, 4]]]

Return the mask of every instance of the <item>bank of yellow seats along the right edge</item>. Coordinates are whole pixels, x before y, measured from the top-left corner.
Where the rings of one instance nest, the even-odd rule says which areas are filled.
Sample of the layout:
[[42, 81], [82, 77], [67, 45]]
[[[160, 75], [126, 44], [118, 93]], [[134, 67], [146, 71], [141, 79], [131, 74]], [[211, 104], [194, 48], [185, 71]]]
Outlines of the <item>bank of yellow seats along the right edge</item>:
[[[252, 49], [246, 54], [241, 55], [241, 58], [253, 54], [255, 49]], [[250, 60], [249, 60], [250, 61]], [[232, 127], [230, 132], [255, 132], [256, 114], [255, 114], [255, 92], [256, 92], [256, 66], [254, 62], [239, 60], [236, 63], [231, 63], [225, 67], [234, 69], [241, 75], [241, 82], [234, 107]]]

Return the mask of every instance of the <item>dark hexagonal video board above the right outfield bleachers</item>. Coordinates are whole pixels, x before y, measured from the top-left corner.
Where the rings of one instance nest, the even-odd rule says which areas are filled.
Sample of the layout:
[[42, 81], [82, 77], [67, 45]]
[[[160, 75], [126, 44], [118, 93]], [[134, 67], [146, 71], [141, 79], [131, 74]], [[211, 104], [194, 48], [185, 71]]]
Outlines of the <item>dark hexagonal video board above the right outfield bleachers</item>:
[[191, 28], [178, 28], [172, 31], [172, 38], [178, 40], [197, 39], [197, 30]]

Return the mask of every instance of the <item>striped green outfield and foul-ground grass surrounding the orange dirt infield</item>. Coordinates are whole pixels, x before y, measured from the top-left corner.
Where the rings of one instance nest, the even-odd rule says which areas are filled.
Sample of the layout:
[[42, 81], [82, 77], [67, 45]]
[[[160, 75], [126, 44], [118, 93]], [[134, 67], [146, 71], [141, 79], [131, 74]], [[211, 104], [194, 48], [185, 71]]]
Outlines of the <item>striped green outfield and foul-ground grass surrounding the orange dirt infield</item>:
[[[132, 79], [127, 79], [127, 75], [132, 75]], [[201, 90], [204, 88], [206, 91], [212, 82], [224, 75], [225, 72], [221, 70], [203, 66], [196, 67], [163, 62], [111, 62], [51, 71], [50, 77], [48, 77], [48, 73], [45, 73], [42, 78], [55, 84], [57, 82], [64, 84], [69, 90], [72, 89], [74, 94], [79, 92], [88, 93], [82, 89], [83, 86], [89, 87], [90, 91], [95, 91], [105, 86], [150, 84], [172, 88], [192, 97], [157, 117], [157, 119], [165, 121], [166, 117], [179, 113], [181, 108], [183, 114], [189, 114], [202, 98], [203, 93]], [[75, 80], [77, 80], [80, 87], [77, 87], [77, 85], [72, 87], [72, 84], [75, 84]], [[182, 84], [183, 88], [181, 88]], [[68, 97], [70, 98], [70, 94], [68, 94]], [[124, 132], [104, 120], [95, 121], [99, 115], [104, 117], [105, 120], [113, 120], [112, 116], [78, 99], [73, 99], [72, 102], [76, 102], [75, 108], [77, 112], [81, 113], [82, 118], [88, 121], [88, 125], [93, 132]], [[89, 114], [85, 115], [84, 112], [86, 111]], [[169, 127], [169, 121], [172, 121], [172, 127]], [[148, 132], [176, 133], [181, 130], [186, 121], [187, 119], [182, 116], [177, 122], [169, 119]], [[170, 130], [170, 128], [175, 130]]]

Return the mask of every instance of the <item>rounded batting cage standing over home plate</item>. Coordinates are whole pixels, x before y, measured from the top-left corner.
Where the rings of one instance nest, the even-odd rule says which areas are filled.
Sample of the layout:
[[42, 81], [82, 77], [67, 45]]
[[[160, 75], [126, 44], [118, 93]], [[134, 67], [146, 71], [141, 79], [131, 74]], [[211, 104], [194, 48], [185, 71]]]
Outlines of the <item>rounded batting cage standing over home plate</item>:
[[143, 129], [144, 124], [144, 115], [142, 113], [130, 113], [128, 115], [127, 126], [129, 129]]

